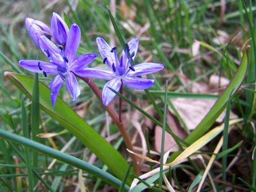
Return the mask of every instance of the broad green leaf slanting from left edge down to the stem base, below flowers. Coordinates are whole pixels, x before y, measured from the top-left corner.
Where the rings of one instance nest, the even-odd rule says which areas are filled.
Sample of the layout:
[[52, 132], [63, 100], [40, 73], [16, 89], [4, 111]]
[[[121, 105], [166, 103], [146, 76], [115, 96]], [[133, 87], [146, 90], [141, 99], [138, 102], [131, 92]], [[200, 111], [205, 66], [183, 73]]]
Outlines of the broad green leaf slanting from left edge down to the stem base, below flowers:
[[[33, 78], [5, 72], [4, 75], [18, 87], [28, 98], [31, 99]], [[55, 107], [50, 101], [50, 89], [43, 83], [39, 83], [40, 109], [71, 132], [81, 143], [88, 147], [109, 169], [121, 180], [128, 168], [125, 161], [101, 135], [99, 135], [87, 122], [79, 117], [66, 103], [57, 97]], [[131, 183], [131, 175], [127, 183]]]

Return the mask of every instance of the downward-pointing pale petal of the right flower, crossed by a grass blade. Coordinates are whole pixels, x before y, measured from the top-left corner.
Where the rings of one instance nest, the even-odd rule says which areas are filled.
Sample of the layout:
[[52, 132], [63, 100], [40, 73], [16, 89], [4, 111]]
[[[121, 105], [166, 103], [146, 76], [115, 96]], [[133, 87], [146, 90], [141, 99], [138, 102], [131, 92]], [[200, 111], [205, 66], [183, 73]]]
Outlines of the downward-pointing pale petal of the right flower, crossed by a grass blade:
[[118, 92], [121, 85], [122, 85], [121, 79], [118, 79], [118, 78], [112, 79], [104, 85], [102, 89], [103, 105], [107, 106], [110, 103], [110, 101], [115, 97], [115, 93], [112, 92], [108, 87]]

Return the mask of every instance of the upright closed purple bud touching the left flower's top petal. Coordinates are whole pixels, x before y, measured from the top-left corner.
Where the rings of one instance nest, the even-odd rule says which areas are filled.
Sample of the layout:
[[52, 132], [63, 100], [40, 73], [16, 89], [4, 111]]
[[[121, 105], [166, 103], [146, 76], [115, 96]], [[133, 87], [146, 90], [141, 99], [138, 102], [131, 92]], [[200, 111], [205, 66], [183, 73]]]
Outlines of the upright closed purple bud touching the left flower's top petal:
[[66, 45], [66, 38], [68, 34], [68, 26], [66, 22], [60, 17], [57, 13], [53, 12], [52, 20], [51, 20], [51, 34], [53, 39], [59, 45]]

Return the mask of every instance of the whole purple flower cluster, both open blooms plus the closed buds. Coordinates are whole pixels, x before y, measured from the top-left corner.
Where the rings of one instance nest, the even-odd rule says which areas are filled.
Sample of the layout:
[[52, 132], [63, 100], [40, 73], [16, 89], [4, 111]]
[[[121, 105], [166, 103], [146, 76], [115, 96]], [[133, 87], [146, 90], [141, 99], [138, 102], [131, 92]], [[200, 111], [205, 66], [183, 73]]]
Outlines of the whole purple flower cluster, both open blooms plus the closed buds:
[[[32, 41], [49, 58], [49, 62], [20, 60], [19, 65], [26, 70], [44, 74], [45, 77], [48, 74], [57, 74], [50, 83], [53, 106], [58, 90], [65, 80], [73, 101], [80, 95], [75, 74], [80, 77], [110, 80], [102, 89], [102, 102], [104, 105], [108, 105], [115, 97], [115, 93], [109, 88], [118, 92], [124, 83], [126, 86], [135, 89], [147, 89], [153, 85], [154, 79], [143, 79], [137, 76], [154, 73], [164, 68], [163, 64], [160, 63], [141, 63], [134, 66], [130, 64], [130, 61], [137, 54], [138, 39], [132, 39], [126, 44], [126, 49], [119, 59], [116, 47], [110, 48], [109, 44], [101, 37], [97, 37], [96, 43], [103, 58], [103, 63], [106, 63], [110, 70], [99, 67], [86, 68], [98, 55], [91, 53], [75, 57], [81, 38], [78, 25], [74, 23], [68, 29], [66, 23], [57, 13], [53, 13], [51, 28], [43, 22], [31, 18], [26, 18], [25, 22]], [[58, 46], [51, 41], [52, 38]]]

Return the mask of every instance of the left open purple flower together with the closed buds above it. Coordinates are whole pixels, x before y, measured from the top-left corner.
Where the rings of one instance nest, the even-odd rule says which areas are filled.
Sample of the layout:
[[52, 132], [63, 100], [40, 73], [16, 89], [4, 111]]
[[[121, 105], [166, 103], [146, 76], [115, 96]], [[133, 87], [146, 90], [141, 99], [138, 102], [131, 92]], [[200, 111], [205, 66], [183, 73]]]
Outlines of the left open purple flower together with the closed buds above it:
[[[35, 23], [35, 24], [34, 24]], [[31, 24], [31, 26], [28, 26]], [[26, 18], [26, 27], [33, 42], [42, 50], [50, 62], [40, 60], [20, 60], [19, 65], [24, 69], [44, 74], [57, 74], [50, 83], [52, 106], [55, 105], [57, 93], [66, 79], [66, 87], [76, 101], [80, 95], [80, 88], [74, 73], [89, 65], [98, 55], [83, 54], [75, 57], [80, 39], [81, 31], [75, 23], [70, 30], [66, 23], [57, 14], [53, 13], [50, 33], [59, 46], [57, 47], [45, 32], [49, 32], [49, 27], [43, 22]], [[62, 45], [62, 46], [60, 46]], [[65, 47], [65, 50], [63, 50]]]

